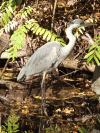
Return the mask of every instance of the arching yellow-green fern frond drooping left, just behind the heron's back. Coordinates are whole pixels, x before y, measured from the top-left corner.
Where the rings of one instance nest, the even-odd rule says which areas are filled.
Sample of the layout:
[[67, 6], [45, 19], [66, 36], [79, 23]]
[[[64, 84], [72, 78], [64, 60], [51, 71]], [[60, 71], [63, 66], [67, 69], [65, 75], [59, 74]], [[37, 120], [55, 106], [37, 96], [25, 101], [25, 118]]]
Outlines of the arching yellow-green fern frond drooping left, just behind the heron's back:
[[64, 40], [60, 39], [59, 36], [52, 33], [48, 29], [40, 27], [36, 20], [30, 19], [29, 21], [26, 21], [25, 25], [17, 29], [11, 36], [11, 43], [9, 44], [11, 48], [7, 50], [7, 52], [9, 52], [8, 58], [12, 58], [14, 60], [14, 58], [17, 57], [17, 51], [24, 46], [24, 40], [28, 30], [31, 30], [36, 35], [42, 36], [43, 40], [59, 41], [63, 46], [66, 45]]

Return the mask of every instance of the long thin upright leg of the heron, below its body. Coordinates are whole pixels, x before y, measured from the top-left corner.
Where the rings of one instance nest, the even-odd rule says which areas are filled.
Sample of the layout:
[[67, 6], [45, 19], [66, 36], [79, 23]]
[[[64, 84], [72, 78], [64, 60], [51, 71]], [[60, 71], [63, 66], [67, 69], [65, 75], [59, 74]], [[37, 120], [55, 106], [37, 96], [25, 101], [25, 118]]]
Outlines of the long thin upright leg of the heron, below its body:
[[42, 83], [41, 83], [41, 109], [42, 109], [42, 114], [44, 113], [44, 104], [45, 104], [45, 76], [46, 76], [46, 72], [43, 73], [43, 79], [42, 79]]

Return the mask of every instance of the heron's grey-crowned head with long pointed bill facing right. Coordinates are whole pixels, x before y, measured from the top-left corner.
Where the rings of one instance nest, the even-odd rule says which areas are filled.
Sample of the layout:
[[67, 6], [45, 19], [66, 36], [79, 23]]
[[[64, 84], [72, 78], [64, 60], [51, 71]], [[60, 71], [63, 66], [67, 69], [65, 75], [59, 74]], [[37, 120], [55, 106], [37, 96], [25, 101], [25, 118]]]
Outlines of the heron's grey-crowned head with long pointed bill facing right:
[[93, 24], [94, 23], [91, 23], [91, 22], [84, 22], [82, 19], [75, 19], [68, 25], [68, 28], [74, 29], [81, 26], [89, 26]]

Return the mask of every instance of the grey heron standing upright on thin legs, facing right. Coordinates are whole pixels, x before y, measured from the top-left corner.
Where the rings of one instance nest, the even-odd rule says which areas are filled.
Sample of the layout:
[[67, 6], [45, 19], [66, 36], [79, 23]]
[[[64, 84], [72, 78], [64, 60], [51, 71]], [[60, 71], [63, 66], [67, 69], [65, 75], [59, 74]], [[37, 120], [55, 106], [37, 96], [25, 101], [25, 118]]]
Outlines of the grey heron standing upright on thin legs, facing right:
[[73, 20], [67, 27], [66, 35], [69, 39], [69, 43], [63, 47], [60, 42], [52, 41], [47, 42], [40, 48], [38, 48], [34, 54], [28, 59], [27, 63], [21, 69], [17, 81], [19, 80], [27, 80], [32, 75], [39, 76], [43, 75], [42, 83], [41, 83], [41, 108], [42, 113], [44, 112], [45, 107], [45, 77], [49, 72], [54, 71], [62, 61], [66, 59], [66, 57], [73, 50], [76, 36], [73, 35], [73, 29], [78, 28], [80, 26], [87, 26], [92, 23], [84, 22], [81, 19]]

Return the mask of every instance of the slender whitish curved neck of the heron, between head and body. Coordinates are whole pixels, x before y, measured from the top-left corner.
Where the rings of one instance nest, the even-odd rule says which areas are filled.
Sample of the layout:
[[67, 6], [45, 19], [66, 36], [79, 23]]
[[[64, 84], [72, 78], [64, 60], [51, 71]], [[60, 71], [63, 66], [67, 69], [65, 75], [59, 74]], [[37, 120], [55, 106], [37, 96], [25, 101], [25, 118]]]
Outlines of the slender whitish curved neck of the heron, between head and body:
[[68, 56], [70, 52], [73, 50], [75, 42], [76, 42], [76, 36], [73, 35], [72, 31], [73, 31], [72, 26], [68, 27], [66, 31], [66, 35], [69, 39], [69, 43], [65, 47], [62, 48], [63, 54], [65, 54], [66, 56]]

